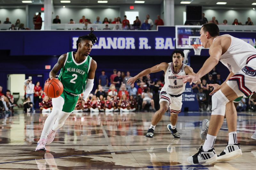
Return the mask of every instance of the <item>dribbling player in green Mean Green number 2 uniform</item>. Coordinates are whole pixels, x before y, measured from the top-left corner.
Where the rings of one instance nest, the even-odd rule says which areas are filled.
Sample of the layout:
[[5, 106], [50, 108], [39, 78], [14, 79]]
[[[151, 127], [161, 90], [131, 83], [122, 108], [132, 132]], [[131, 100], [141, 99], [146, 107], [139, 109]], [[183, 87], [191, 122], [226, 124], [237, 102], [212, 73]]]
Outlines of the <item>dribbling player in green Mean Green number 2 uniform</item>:
[[[44, 122], [44, 128], [37, 142], [36, 151], [45, 152], [45, 144], [50, 144], [65, 120], [74, 109], [80, 110], [93, 88], [93, 80], [97, 63], [89, 56], [92, 46], [97, 42], [97, 37], [92, 33], [81, 36], [76, 41], [76, 52], [68, 52], [58, 59], [52, 68], [46, 82], [56, 77], [63, 84], [63, 93], [52, 99], [52, 112]], [[77, 103], [78, 95], [83, 93], [83, 100]]]

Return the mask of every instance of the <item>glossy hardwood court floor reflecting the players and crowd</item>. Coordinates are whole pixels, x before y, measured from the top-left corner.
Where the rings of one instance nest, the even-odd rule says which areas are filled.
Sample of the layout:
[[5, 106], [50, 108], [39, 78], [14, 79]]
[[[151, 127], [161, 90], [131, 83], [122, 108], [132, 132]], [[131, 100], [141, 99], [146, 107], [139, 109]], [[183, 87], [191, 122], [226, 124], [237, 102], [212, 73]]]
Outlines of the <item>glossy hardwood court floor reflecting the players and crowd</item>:
[[[47, 152], [35, 152], [45, 116], [21, 111], [0, 119], [0, 169], [256, 169], [256, 140], [251, 139], [256, 113], [238, 114], [238, 141], [243, 156], [229, 162], [190, 165], [189, 155], [203, 144], [201, 122], [210, 113], [180, 113], [177, 124], [180, 139], [168, 129], [169, 115], [156, 126], [154, 138], [146, 138], [153, 113], [70, 115], [46, 145]], [[228, 141], [224, 122], [215, 142], [219, 154]]]

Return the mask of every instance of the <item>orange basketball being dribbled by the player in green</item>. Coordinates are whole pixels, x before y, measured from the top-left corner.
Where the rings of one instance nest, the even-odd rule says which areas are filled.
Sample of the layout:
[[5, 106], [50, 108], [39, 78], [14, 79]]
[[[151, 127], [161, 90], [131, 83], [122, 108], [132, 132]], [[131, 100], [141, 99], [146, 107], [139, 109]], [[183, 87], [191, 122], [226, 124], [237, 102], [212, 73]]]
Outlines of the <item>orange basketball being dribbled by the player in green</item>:
[[44, 84], [44, 92], [50, 98], [57, 98], [63, 92], [63, 85], [60, 80], [54, 78]]

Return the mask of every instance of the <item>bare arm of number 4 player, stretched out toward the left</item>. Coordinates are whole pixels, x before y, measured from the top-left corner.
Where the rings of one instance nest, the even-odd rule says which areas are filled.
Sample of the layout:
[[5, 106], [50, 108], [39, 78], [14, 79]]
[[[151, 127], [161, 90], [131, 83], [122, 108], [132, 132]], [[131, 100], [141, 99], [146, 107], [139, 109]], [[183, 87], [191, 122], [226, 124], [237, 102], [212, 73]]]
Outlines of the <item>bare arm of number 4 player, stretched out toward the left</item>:
[[166, 69], [168, 68], [168, 63], [160, 63], [157, 64], [151, 68], [148, 68], [146, 70], [141, 71], [139, 74], [137, 74], [136, 76], [129, 78], [129, 80], [127, 81], [127, 84], [133, 84], [138, 78], [146, 76], [150, 73], [155, 73], [155, 72], [159, 72], [159, 71], [166, 71]]

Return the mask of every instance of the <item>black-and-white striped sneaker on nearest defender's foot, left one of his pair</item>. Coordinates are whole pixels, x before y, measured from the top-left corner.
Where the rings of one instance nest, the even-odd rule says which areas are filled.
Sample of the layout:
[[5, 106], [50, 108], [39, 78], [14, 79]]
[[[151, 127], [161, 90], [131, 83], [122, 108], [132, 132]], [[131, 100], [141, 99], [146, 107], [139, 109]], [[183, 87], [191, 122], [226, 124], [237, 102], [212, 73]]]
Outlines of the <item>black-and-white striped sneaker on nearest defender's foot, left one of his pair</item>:
[[214, 148], [207, 152], [203, 151], [203, 146], [197, 149], [199, 149], [199, 151], [195, 155], [189, 156], [187, 159], [190, 164], [211, 164], [217, 160], [217, 155], [214, 152]]

